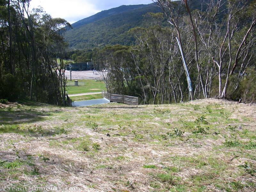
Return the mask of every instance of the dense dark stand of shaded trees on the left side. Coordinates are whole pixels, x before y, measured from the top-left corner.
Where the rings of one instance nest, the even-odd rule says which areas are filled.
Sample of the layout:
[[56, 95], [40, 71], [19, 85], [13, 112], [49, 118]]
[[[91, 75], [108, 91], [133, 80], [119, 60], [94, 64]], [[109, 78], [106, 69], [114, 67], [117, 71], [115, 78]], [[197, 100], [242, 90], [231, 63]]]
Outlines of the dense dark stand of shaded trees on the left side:
[[[71, 25], [30, 0], [0, 0], [0, 98], [65, 103], [63, 33]], [[60, 62], [57, 62], [60, 59]]]

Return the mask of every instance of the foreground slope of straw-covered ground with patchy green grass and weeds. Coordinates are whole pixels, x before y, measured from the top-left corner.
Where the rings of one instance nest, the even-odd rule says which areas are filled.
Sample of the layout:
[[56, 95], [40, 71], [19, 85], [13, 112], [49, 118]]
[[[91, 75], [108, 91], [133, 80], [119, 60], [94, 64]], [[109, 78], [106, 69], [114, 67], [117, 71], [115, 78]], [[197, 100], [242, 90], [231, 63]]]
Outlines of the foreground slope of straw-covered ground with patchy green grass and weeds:
[[255, 105], [0, 107], [0, 187], [256, 190]]

